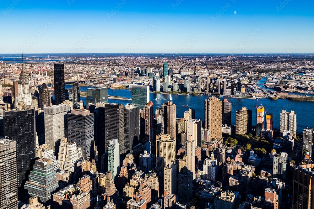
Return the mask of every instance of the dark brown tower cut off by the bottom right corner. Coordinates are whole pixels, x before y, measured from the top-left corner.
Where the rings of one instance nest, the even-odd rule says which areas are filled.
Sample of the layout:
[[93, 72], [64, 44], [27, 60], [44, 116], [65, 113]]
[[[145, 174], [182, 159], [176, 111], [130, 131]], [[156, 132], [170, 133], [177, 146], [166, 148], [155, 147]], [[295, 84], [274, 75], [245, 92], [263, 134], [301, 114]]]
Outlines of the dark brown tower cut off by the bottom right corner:
[[299, 165], [294, 169], [292, 206], [296, 209], [314, 209], [314, 164]]

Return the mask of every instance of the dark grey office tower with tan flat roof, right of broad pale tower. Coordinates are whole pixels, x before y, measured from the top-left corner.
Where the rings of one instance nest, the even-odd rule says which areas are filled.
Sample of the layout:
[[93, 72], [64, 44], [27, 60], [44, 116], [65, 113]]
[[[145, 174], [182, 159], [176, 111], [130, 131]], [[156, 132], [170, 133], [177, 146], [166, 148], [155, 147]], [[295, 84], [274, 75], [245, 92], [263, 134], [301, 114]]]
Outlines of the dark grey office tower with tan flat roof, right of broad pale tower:
[[94, 159], [94, 114], [89, 110], [72, 110], [68, 114], [68, 141], [76, 142], [83, 158]]

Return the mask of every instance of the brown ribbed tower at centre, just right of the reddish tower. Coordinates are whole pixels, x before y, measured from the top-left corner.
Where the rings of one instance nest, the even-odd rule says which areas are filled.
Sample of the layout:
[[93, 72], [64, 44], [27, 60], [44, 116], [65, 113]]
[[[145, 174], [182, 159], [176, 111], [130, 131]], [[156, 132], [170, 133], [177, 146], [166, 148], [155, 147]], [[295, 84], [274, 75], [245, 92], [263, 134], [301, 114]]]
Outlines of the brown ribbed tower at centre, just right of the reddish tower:
[[176, 105], [169, 101], [161, 104], [161, 133], [176, 139]]

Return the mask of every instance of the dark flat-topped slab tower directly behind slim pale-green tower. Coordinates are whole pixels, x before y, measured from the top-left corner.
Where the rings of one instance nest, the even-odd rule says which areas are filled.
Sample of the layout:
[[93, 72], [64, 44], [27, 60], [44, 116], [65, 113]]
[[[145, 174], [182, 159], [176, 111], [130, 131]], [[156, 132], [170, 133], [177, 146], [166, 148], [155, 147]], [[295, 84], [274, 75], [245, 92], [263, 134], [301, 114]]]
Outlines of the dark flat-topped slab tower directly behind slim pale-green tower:
[[[120, 154], [124, 154], [124, 109], [123, 104], [108, 103], [105, 104], [105, 138], [100, 138], [99, 146], [103, 146], [102, 140], [105, 140], [105, 151], [108, 150], [109, 141], [118, 139], [120, 144]], [[99, 116], [100, 117], [100, 116]], [[103, 128], [103, 127], [100, 127]]]

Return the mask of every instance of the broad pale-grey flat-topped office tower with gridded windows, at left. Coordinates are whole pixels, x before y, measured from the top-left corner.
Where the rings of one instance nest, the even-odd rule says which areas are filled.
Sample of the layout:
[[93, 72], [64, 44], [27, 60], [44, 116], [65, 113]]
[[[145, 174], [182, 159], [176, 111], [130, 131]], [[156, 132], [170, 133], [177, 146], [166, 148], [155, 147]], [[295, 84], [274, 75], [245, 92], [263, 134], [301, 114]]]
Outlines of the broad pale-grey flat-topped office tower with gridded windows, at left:
[[45, 144], [55, 152], [56, 142], [66, 138], [68, 129], [69, 105], [53, 105], [45, 107]]

